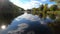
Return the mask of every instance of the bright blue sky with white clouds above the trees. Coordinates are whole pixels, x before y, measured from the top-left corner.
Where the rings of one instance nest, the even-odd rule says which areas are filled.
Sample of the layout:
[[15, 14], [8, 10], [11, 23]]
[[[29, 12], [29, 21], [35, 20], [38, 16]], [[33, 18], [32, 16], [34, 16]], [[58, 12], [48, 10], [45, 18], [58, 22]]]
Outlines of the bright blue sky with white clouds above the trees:
[[41, 4], [48, 4], [48, 7], [55, 4], [55, 2], [50, 2], [50, 0], [9, 0], [16, 6], [19, 6], [25, 10], [31, 8], [38, 8]]

